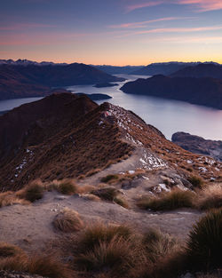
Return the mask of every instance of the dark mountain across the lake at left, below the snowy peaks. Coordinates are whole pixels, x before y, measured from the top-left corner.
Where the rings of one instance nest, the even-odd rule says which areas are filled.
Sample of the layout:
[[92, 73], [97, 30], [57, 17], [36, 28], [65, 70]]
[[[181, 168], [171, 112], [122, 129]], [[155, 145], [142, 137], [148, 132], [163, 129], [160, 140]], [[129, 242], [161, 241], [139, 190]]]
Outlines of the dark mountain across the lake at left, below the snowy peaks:
[[51, 87], [123, 81], [84, 64], [0, 65], [0, 99], [45, 96]]

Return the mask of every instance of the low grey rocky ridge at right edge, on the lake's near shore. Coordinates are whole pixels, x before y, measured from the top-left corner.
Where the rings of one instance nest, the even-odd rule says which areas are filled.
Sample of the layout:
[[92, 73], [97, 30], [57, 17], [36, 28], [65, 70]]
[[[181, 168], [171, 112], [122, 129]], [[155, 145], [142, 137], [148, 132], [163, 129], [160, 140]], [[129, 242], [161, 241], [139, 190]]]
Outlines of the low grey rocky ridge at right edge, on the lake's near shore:
[[172, 135], [172, 142], [194, 154], [210, 155], [222, 162], [222, 141], [207, 140], [185, 132]]

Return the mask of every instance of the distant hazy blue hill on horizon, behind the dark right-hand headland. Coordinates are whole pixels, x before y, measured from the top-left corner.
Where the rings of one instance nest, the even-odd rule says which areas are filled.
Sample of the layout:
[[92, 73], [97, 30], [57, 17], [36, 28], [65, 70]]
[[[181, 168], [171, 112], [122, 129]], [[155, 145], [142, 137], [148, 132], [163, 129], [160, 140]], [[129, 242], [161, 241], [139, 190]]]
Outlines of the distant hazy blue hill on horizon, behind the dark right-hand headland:
[[167, 63], [153, 63], [147, 67], [139, 68], [131, 71], [131, 75], [170, 75], [179, 69], [186, 67], [193, 67], [198, 63], [183, 63], [183, 62], [167, 62]]

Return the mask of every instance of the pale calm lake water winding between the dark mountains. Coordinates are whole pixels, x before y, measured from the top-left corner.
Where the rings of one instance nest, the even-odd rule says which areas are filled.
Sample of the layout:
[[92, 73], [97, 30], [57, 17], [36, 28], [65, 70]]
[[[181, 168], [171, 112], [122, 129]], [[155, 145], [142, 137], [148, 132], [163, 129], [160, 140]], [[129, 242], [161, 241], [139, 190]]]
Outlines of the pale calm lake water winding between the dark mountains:
[[[129, 80], [135, 80], [138, 75], [118, 75]], [[125, 94], [118, 86], [108, 88], [94, 88], [91, 85], [78, 85], [67, 87], [68, 90], [84, 93], [105, 93], [113, 99], [106, 101], [129, 109], [139, 115], [147, 123], [153, 124], [163, 132], [167, 139], [177, 131], [185, 131], [194, 135], [202, 136], [205, 139], [222, 140], [222, 110], [209, 107], [196, 106], [186, 102], [157, 99], [153, 97]], [[10, 99], [0, 101], [0, 111], [12, 109], [22, 103], [35, 99]], [[40, 99], [40, 98], [39, 98]], [[97, 101], [99, 104], [104, 102]]]

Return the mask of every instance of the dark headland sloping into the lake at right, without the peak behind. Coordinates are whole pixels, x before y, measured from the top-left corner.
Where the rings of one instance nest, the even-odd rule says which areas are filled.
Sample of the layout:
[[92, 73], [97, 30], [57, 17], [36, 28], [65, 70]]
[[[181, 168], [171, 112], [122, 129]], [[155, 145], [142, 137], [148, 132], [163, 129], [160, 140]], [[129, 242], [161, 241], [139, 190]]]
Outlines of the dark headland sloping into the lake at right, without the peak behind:
[[222, 81], [213, 78], [155, 75], [125, 83], [122, 91], [222, 109]]

